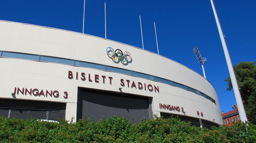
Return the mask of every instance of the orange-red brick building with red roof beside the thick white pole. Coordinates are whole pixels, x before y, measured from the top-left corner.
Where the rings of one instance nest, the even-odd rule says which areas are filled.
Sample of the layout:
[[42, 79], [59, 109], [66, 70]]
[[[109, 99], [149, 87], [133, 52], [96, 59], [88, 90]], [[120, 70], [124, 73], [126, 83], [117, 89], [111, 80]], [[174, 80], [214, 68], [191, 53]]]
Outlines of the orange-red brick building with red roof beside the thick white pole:
[[224, 125], [230, 126], [233, 125], [233, 122], [237, 123], [238, 120], [240, 120], [237, 105], [233, 104], [232, 109], [232, 111], [228, 111], [226, 113], [224, 113], [224, 111], [221, 112]]

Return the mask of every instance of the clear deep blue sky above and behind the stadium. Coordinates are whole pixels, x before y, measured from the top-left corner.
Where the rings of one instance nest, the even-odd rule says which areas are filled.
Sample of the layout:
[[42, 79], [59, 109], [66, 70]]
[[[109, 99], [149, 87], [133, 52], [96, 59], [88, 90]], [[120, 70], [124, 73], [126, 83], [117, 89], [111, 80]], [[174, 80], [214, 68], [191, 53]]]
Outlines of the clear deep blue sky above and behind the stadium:
[[[157, 53], [203, 75], [193, 48], [207, 58], [205, 72], [217, 91], [221, 110], [232, 110], [234, 94], [226, 91], [228, 68], [210, 0], [197, 1], [120, 1], [86, 0], [84, 33]], [[232, 64], [256, 61], [256, 1], [215, 0], [220, 23], [226, 35]], [[83, 0], [8, 0], [0, 1], [0, 20], [29, 23], [82, 33]]]

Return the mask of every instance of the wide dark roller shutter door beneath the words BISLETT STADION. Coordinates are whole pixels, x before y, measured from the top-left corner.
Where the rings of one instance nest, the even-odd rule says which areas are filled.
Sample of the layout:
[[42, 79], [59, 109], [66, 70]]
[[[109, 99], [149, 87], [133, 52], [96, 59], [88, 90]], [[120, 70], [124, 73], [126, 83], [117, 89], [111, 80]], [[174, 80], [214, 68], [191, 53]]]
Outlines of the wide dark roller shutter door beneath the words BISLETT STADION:
[[99, 121], [103, 116], [105, 118], [115, 115], [120, 117], [129, 116], [129, 120], [134, 117], [133, 121], [137, 123], [144, 117], [149, 118], [148, 100], [81, 92], [80, 119], [84, 119], [85, 115], [93, 116], [94, 121]]

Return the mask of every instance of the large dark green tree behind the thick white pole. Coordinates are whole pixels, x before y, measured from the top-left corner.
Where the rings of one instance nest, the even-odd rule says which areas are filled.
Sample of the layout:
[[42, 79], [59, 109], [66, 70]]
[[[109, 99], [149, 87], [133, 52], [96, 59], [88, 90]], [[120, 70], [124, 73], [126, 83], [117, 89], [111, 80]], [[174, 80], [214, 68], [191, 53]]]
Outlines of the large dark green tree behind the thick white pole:
[[[234, 73], [244, 102], [246, 114], [253, 124], [256, 124], [256, 65], [255, 62], [240, 62], [234, 65]], [[232, 90], [230, 77], [227, 90]], [[239, 110], [239, 109], [238, 109]]]

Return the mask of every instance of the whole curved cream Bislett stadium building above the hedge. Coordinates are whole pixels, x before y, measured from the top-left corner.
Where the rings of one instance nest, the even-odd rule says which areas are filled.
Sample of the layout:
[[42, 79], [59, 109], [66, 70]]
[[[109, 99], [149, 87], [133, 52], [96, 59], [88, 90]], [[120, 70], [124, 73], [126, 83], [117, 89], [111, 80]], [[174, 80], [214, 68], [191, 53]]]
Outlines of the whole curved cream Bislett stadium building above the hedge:
[[190, 68], [120, 42], [0, 21], [0, 115], [71, 120], [155, 114], [222, 124], [214, 87]]

